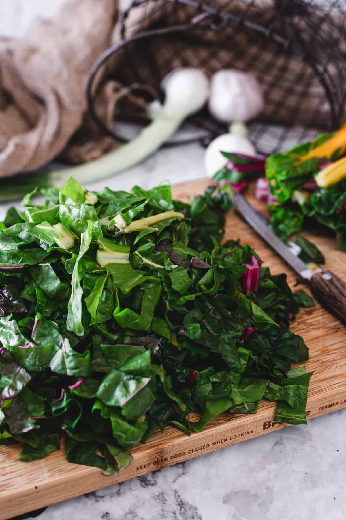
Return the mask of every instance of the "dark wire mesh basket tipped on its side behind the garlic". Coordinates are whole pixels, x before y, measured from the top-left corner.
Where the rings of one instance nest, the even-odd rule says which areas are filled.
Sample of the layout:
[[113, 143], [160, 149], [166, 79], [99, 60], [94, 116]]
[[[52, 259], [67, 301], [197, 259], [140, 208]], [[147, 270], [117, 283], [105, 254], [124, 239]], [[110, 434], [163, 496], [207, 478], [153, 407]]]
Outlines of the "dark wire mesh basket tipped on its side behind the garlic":
[[[87, 88], [93, 119], [119, 142], [126, 139], [98, 113], [102, 89], [112, 89], [115, 119], [145, 123], [147, 102], [161, 96], [161, 80], [177, 67], [198, 67], [209, 77], [229, 68], [257, 77], [265, 108], [250, 138], [261, 153], [342, 122], [344, 0], [134, 0], [121, 16], [121, 41], [94, 64]], [[191, 122], [203, 128], [204, 143], [226, 131], [206, 109]]]

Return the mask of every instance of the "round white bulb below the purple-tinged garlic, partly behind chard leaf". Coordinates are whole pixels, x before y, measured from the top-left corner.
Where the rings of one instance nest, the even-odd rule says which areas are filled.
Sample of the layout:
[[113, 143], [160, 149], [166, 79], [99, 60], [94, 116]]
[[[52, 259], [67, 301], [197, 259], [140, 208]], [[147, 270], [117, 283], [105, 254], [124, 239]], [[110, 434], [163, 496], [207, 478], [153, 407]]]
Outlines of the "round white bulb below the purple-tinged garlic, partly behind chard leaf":
[[204, 152], [204, 172], [207, 177], [213, 177], [228, 163], [221, 151], [256, 155], [255, 148], [246, 137], [236, 134], [219, 135]]

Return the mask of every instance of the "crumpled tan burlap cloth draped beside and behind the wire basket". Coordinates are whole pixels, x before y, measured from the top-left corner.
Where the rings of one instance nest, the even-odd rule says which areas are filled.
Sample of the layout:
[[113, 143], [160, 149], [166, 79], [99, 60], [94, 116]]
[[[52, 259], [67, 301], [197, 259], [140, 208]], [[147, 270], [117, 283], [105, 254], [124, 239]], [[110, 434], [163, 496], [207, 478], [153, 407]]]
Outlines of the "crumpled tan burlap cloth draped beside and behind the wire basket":
[[[261, 0], [261, 6], [265, 7], [268, 2]], [[73, 162], [87, 161], [118, 146], [103, 136], [91, 121], [85, 88], [96, 58], [123, 36], [119, 12], [126, 10], [129, 3], [130, 0], [68, 0], [51, 20], [35, 20], [21, 39], [0, 39], [0, 176], [34, 171], [58, 156]], [[210, 3], [225, 4], [223, 0]], [[188, 10], [151, 0], [143, 8], [131, 11], [124, 35], [129, 37], [153, 27], [163, 18], [167, 23], [186, 21]], [[191, 16], [193, 14], [196, 16], [196, 10], [191, 9]], [[292, 87], [288, 103], [276, 99], [280, 99], [280, 81], [290, 73], [289, 67], [295, 71], [291, 72], [294, 80], [296, 76], [298, 80], [300, 74], [300, 85], [309, 86], [312, 100], [311, 107], [308, 102], [305, 111], [295, 110], [296, 121], [307, 123], [312, 114], [317, 119], [323, 116], [328, 108], [320, 103], [322, 87], [313, 81], [311, 71], [302, 71], [295, 62], [287, 65], [287, 60], [273, 57], [267, 47], [259, 66], [256, 36], [246, 33], [244, 28], [231, 31], [218, 32], [217, 37], [211, 31], [193, 34], [188, 43], [182, 35], [157, 38], [154, 43], [140, 42], [133, 46], [133, 60], [129, 53], [115, 57], [98, 78], [100, 85], [102, 76], [113, 71], [113, 80], [99, 89], [98, 113], [107, 124], [112, 123], [114, 97], [122, 84], [135, 81], [135, 72], [140, 72], [142, 82], [144, 79], [158, 89], [160, 77], [175, 67], [201, 66], [211, 74], [223, 66], [244, 68], [246, 58], [246, 68], [253, 70], [259, 81], [265, 82], [267, 87], [279, 85], [276, 94], [270, 91], [267, 96], [266, 119], [292, 122], [292, 112], [301, 94], [295, 95]], [[230, 35], [234, 41], [235, 33], [238, 46], [234, 47], [232, 42], [230, 47]], [[234, 54], [234, 48], [243, 50]], [[230, 51], [233, 52], [231, 62]], [[150, 67], [148, 63], [153, 56], [149, 59], [149, 53], [155, 54]]]

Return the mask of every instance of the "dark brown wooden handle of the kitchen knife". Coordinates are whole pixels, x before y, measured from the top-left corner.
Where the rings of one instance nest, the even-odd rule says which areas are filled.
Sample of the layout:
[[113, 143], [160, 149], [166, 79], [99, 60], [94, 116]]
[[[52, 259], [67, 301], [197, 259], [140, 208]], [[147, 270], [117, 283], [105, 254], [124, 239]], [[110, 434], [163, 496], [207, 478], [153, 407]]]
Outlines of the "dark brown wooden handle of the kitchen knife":
[[310, 287], [316, 300], [346, 324], [346, 283], [326, 269], [312, 276]]

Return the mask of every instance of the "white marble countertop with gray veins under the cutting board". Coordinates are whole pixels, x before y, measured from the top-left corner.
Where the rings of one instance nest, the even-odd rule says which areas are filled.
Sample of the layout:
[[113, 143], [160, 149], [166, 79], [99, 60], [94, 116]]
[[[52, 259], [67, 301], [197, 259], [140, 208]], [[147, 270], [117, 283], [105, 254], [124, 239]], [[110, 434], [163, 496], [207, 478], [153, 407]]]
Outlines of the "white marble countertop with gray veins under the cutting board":
[[[0, 0], [0, 34], [20, 36], [62, 0]], [[203, 177], [198, 145], [161, 150], [111, 188]], [[103, 183], [89, 185], [98, 189]], [[0, 219], [6, 210], [0, 206]], [[346, 410], [49, 506], [39, 520], [345, 520]], [[112, 478], [112, 477], [109, 477]]]

